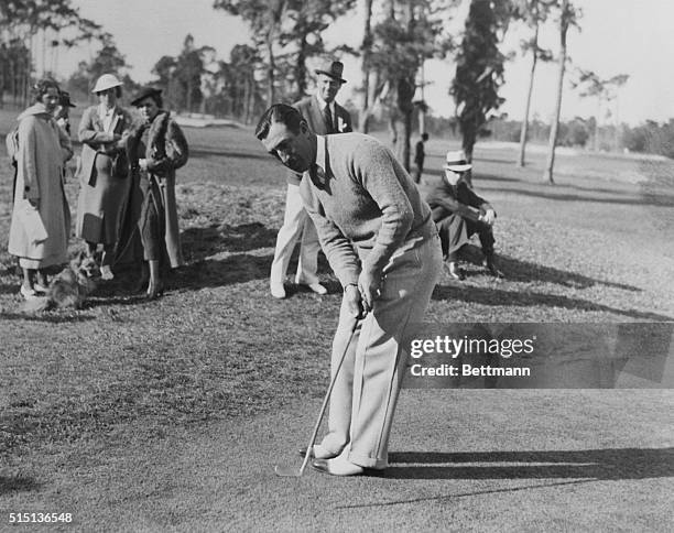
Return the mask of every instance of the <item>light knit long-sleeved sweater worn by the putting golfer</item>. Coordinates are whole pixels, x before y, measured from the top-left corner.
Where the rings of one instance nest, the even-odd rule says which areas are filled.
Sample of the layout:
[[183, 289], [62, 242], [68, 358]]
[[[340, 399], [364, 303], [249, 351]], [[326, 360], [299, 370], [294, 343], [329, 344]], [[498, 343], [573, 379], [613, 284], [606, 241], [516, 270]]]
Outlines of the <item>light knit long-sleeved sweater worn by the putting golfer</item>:
[[416, 185], [376, 139], [317, 135], [315, 163], [300, 192], [343, 286], [356, 284], [361, 270], [381, 273], [396, 251], [436, 235]]

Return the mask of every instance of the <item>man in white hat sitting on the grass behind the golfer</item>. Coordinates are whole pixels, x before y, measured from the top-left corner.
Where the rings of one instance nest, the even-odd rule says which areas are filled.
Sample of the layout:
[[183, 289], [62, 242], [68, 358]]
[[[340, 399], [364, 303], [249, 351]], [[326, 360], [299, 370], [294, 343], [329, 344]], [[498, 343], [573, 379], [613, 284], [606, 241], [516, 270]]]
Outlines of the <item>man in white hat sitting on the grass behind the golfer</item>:
[[480, 198], [466, 183], [467, 173], [472, 165], [466, 162], [463, 150], [449, 151], [444, 166], [445, 175], [427, 196], [426, 202], [433, 209], [433, 221], [437, 226], [445, 257], [446, 270], [454, 280], [463, 280], [464, 272], [458, 268], [458, 251], [477, 233], [485, 253], [483, 265], [491, 274], [502, 278], [494, 262], [493, 233], [491, 227], [496, 211], [487, 200]]

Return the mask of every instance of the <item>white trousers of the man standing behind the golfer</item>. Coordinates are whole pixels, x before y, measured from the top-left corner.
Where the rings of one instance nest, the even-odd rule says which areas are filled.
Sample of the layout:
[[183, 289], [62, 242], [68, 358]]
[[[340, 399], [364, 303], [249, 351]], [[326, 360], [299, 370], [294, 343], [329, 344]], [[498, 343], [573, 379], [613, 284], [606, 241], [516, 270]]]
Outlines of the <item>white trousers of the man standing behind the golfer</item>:
[[300, 185], [289, 183], [285, 195], [283, 226], [276, 236], [276, 249], [269, 279], [271, 285], [283, 284], [293, 250], [301, 236], [302, 243], [300, 246], [295, 283], [304, 283], [306, 285], [318, 283], [316, 271], [318, 270], [320, 243], [318, 242], [316, 227], [306, 214], [306, 210], [304, 210], [302, 196], [300, 196]]

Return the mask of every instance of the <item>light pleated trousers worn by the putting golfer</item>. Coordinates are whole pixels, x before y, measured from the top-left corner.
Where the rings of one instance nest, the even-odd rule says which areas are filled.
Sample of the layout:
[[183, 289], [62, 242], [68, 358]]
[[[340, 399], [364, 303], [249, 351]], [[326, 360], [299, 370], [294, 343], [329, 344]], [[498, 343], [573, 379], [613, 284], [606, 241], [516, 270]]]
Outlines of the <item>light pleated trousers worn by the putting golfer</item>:
[[[348, 448], [348, 460], [385, 468], [395, 403], [413, 335], [442, 270], [439, 238], [393, 254], [384, 269], [381, 295], [348, 347], [330, 396], [328, 433], [322, 442], [334, 454]], [[333, 374], [349, 338], [354, 317], [343, 301], [333, 342]]]

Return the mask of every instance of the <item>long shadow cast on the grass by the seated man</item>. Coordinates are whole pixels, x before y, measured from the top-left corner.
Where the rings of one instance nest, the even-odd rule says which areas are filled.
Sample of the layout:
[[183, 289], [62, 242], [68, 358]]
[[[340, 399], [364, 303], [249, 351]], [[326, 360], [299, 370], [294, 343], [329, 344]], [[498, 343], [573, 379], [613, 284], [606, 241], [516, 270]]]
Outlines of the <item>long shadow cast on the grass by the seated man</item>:
[[[482, 252], [475, 244], [466, 244], [460, 251], [460, 259], [468, 261], [481, 268]], [[595, 285], [604, 285], [622, 291], [643, 292], [642, 289], [623, 283], [615, 283], [610, 281], [596, 280], [575, 272], [554, 269], [552, 266], [543, 266], [539, 263], [522, 261], [510, 258], [508, 255], [498, 255], [499, 268], [506, 273], [506, 279], [518, 282], [544, 282], [564, 285], [574, 289], [587, 289]]]

